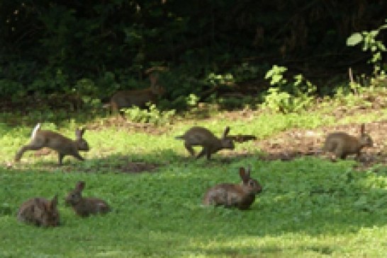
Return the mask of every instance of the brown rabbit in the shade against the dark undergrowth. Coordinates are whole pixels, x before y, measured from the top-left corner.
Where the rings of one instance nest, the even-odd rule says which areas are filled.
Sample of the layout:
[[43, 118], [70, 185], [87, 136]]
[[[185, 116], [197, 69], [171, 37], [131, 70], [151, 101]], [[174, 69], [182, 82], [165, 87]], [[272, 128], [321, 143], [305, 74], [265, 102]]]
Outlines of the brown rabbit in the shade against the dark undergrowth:
[[118, 90], [111, 96], [111, 112], [117, 113], [123, 107], [145, 107], [147, 102], [155, 102], [157, 97], [165, 92], [162, 86], [157, 84], [158, 75], [150, 74], [150, 87], [144, 90]]

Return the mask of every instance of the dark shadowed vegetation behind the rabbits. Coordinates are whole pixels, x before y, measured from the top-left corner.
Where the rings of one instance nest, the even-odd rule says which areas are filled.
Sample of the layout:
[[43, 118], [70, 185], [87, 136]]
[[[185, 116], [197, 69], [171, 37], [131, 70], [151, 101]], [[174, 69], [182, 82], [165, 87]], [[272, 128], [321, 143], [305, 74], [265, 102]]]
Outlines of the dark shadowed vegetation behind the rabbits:
[[371, 71], [370, 54], [345, 42], [383, 24], [386, 11], [382, 0], [1, 1], [1, 108], [105, 102], [146, 87], [154, 66], [167, 68], [169, 100], [203, 96], [211, 73], [257, 94], [273, 64], [330, 94], [349, 66]]

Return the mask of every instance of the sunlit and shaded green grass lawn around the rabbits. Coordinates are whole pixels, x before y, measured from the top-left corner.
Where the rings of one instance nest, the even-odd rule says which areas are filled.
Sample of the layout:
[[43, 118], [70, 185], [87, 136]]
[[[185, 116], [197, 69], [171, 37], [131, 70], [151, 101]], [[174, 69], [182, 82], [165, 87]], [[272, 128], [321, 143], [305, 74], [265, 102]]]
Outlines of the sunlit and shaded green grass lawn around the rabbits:
[[[115, 127], [86, 131], [91, 151], [79, 162], [55, 153], [13, 157], [33, 125], [0, 124], [0, 257], [386, 257], [387, 169], [357, 172], [354, 160], [322, 158], [264, 161], [254, 141], [220, 151], [213, 160], [194, 160], [174, 136], [192, 125], [220, 135], [258, 139], [290, 128], [386, 119], [386, 110], [337, 121], [323, 113], [258, 115], [186, 120], [162, 134]], [[76, 124], [60, 128], [74, 139]], [[152, 172], [130, 173], [129, 163], [157, 165]], [[240, 182], [238, 168], [252, 165], [252, 177], [264, 187], [251, 209], [203, 207], [208, 187]], [[78, 180], [84, 196], [100, 197], [113, 211], [79, 218], [64, 206]], [[36, 228], [16, 220], [18, 206], [30, 197], [58, 194], [60, 227]]]

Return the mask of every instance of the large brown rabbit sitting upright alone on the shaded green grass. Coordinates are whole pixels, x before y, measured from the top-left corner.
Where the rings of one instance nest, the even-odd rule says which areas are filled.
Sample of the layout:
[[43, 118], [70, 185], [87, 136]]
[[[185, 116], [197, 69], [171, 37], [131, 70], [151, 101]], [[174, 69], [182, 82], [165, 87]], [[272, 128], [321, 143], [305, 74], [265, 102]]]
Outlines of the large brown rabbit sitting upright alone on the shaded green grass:
[[250, 177], [250, 168], [239, 169], [240, 184], [217, 184], [208, 189], [203, 198], [204, 205], [223, 205], [226, 208], [249, 209], [255, 200], [255, 194], [262, 192], [262, 186]]

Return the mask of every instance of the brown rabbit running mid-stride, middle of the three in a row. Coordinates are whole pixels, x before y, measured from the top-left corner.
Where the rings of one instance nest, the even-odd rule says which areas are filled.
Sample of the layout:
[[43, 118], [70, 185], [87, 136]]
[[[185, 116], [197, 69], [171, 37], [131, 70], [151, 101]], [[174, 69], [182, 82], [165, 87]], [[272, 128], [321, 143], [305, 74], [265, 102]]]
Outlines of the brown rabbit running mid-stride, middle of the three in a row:
[[227, 134], [230, 127], [226, 127], [221, 139], [213, 135], [211, 131], [203, 127], [191, 127], [185, 134], [176, 136], [176, 139], [184, 140], [184, 146], [191, 156], [195, 156], [194, 148], [192, 146], [202, 146], [203, 149], [196, 158], [201, 158], [206, 154], [207, 159], [211, 158], [211, 154], [220, 151], [223, 148], [233, 150], [235, 148], [234, 141], [228, 138]]

